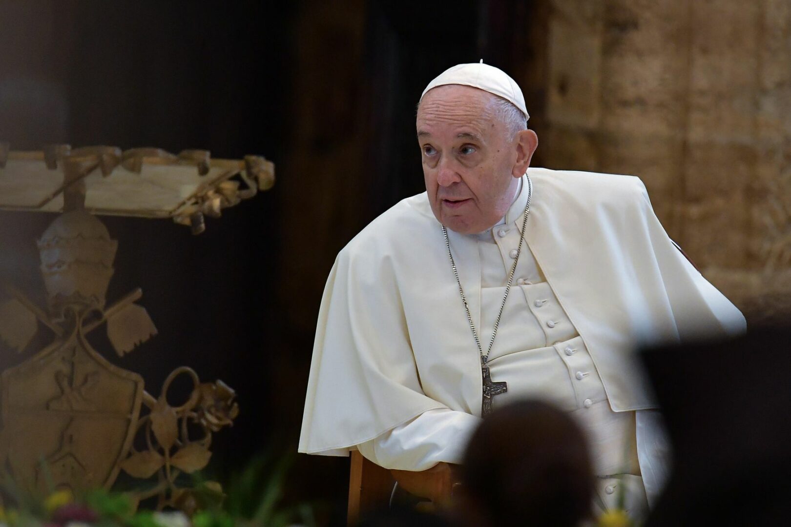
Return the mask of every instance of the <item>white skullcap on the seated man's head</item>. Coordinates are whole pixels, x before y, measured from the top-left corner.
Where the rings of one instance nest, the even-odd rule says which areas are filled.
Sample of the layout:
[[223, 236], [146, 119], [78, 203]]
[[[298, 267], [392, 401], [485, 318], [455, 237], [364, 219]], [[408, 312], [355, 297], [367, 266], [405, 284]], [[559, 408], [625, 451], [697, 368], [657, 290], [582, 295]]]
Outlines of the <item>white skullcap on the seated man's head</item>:
[[484, 64], [483, 60], [472, 64], [457, 64], [440, 73], [439, 77], [426, 86], [420, 100], [431, 88], [444, 85], [465, 85], [494, 93], [513, 103], [524, 113], [524, 119], [530, 119], [528, 108], [524, 105], [524, 96], [517, 83], [503, 70]]

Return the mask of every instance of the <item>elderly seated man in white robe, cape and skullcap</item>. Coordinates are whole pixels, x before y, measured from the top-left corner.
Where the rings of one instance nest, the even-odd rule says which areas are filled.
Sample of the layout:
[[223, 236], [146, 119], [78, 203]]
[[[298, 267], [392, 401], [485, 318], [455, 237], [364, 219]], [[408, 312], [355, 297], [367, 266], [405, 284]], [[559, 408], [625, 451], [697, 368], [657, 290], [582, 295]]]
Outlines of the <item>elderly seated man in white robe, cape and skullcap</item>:
[[359, 450], [452, 483], [482, 416], [538, 397], [586, 431], [596, 503], [623, 486], [640, 516], [668, 453], [634, 349], [738, 333], [744, 318], [668, 238], [638, 178], [528, 168], [527, 120], [516, 82], [483, 61], [426, 87], [426, 192], [338, 255], [299, 450]]

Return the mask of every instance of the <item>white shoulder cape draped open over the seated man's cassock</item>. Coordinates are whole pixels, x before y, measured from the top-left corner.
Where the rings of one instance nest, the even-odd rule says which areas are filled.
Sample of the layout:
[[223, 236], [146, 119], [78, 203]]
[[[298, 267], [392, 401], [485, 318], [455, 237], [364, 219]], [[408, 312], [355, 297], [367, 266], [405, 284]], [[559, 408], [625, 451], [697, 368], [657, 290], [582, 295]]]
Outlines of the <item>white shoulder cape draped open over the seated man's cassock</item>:
[[[656, 407], [634, 361], [636, 344], [744, 330], [742, 314], [668, 238], [639, 179], [528, 174], [525, 241], [585, 341], [613, 410]], [[477, 246], [448, 236], [479, 327]], [[400, 201], [352, 239], [331, 270], [299, 450], [346, 455], [432, 408], [479, 416], [479, 361], [426, 193]]]

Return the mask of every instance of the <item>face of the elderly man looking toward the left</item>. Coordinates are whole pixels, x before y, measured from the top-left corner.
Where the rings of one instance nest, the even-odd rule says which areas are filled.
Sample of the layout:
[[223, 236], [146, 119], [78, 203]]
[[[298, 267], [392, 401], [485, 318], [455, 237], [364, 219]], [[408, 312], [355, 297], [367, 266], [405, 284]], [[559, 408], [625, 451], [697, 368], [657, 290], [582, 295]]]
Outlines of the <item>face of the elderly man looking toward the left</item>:
[[527, 166], [517, 162], [519, 140], [498, 119], [494, 96], [471, 86], [433, 88], [420, 103], [417, 127], [437, 220], [470, 234], [505, 216]]

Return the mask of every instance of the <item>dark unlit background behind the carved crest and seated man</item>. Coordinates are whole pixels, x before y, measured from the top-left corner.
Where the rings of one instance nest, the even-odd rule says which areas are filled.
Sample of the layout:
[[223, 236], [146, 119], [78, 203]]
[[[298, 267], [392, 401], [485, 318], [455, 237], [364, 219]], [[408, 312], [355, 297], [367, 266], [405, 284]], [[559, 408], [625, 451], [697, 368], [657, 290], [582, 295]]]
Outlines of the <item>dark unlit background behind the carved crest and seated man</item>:
[[[155, 396], [183, 364], [237, 390], [241, 413], [215, 436], [211, 471], [225, 477], [271, 445], [296, 450], [335, 254], [423, 190], [414, 109], [431, 78], [480, 58], [529, 78], [530, 4], [0, 2], [0, 139], [12, 149], [153, 146], [274, 161], [274, 189], [207, 220], [199, 236], [167, 220], [101, 218], [119, 241], [108, 302], [141, 287], [159, 334], [120, 359], [101, 331], [93, 345]], [[540, 102], [531, 112], [540, 126]], [[0, 213], [0, 278], [41, 305], [35, 241], [54, 219]], [[23, 355], [0, 343], [2, 366], [44, 343]], [[301, 455], [290, 474], [289, 499], [324, 500], [343, 518], [345, 458]]]

